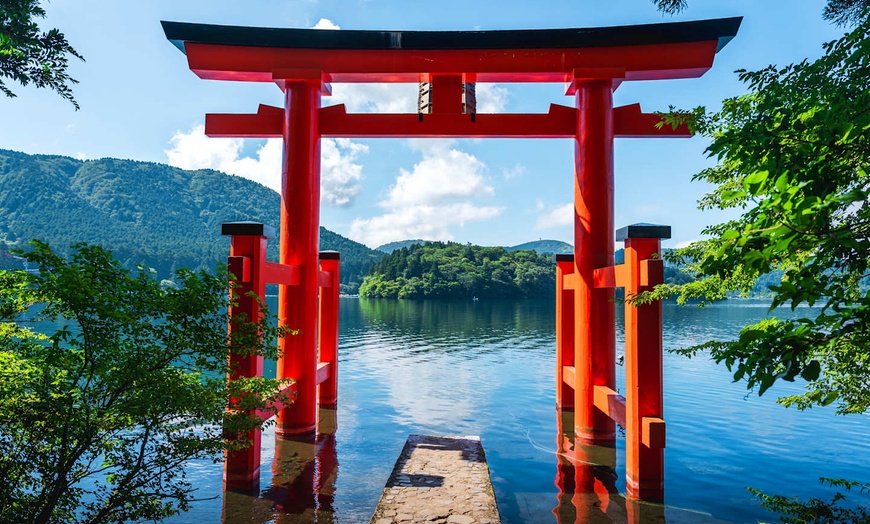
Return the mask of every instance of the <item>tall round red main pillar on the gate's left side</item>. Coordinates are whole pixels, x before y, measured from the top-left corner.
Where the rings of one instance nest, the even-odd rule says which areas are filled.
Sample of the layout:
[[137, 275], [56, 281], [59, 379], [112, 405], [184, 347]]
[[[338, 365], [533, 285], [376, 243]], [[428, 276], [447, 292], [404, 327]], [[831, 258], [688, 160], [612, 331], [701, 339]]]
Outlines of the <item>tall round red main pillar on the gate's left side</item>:
[[299, 267], [299, 285], [280, 286], [278, 321], [299, 330], [279, 342], [278, 378], [296, 380], [296, 402], [278, 413], [279, 437], [317, 423], [317, 281], [320, 245], [320, 83], [288, 80], [284, 89], [281, 263]]

